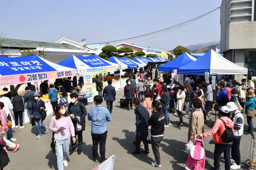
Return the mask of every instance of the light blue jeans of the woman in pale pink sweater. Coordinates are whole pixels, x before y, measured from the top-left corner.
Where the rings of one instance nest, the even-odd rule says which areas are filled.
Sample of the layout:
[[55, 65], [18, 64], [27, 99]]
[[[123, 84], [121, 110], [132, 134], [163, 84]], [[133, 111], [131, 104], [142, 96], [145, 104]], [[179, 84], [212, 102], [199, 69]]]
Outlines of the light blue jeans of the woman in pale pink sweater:
[[57, 156], [58, 170], [63, 170], [63, 160], [68, 158], [68, 151], [70, 146], [70, 138], [65, 140], [56, 140], [55, 151]]

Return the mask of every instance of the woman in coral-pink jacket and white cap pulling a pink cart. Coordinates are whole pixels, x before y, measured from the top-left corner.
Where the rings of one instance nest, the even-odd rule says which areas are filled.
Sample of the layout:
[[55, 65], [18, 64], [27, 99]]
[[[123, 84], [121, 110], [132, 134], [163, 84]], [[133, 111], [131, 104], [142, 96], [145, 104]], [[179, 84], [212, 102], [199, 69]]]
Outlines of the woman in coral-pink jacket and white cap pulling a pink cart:
[[[225, 159], [225, 170], [230, 169], [231, 160], [230, 160], [230, 150], [232, 146], [232, 142], [225, 143], [222, 141], [220, 136], [223, 135], [225, 131], [225, 124], [234, 132], [234, 123], [231, 119], [228, 118], [229, 115], [229, 108], [227, 106], [223, 106], [219, 110], [220, 119], [217, 119], [213, 125], [212, 130], [208, 132], [204, 132], [203, 134], [199, 134], [199, 137], [207, 137], [213, 135], [213, 142], [215, 143], [214, 148], [214, 168], [210, 168], [210, 170], [220, 170], [220, 155], [224, 153]], [[225, 124], [224, 124], [225, 122]]]

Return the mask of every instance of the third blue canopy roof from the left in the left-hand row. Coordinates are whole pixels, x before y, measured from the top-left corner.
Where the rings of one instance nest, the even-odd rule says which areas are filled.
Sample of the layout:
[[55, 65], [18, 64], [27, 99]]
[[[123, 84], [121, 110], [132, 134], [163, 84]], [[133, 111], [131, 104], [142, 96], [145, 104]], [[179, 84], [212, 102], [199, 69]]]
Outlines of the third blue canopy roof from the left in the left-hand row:
[[112, 57], [108, 58], [107, 61], [116, 63], [116, 64], [120, 64], [121, 69], [127, 69], [127, 68], [132, 69], [132, 68], [143, 67], [143, 64], [134, 62], [127, 57], [117, 58], [117, 57], [112, 56]]

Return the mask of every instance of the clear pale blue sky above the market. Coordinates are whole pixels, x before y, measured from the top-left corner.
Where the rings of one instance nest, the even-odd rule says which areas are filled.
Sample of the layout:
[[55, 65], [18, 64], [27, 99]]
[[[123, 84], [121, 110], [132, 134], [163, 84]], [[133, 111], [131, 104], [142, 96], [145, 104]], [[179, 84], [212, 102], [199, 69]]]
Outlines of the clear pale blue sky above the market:
[[[6, 32], [6, 38], [46, 42], [62, 37], [105, 42], [174, 26], [220, 5], [221, 0], [1, 0], [0, 33]], [[171, 50], [219, 40], [217, 10], [171, 33], [135, 43]]]

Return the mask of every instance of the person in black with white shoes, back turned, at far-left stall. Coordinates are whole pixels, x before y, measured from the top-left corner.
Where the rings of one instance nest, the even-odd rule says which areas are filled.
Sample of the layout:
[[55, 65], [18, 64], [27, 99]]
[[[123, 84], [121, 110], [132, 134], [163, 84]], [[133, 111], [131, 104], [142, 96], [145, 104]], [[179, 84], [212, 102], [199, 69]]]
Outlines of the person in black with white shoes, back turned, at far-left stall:
[[[17, 91], [12, 91], [11, 96], [11, 103], [15, 117], [15, 128], [23, 129], [24, 99], [22, 96], [18, 95]], [[18, 119], [20, 119], [20, 125], [18, 124]]]

